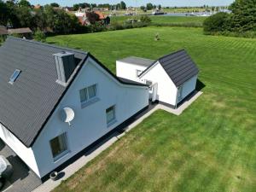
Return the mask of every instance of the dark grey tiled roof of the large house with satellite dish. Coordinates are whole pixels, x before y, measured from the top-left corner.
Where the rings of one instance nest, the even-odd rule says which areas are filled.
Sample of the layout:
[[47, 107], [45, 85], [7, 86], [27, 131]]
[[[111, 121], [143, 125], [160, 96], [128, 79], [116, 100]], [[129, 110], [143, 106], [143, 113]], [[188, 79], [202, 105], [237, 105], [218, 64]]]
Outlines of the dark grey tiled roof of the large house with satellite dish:
[[[146, 86], [118, 79], [90, 53], [21, 38], [8, 38], [0, 47], [0, 122], [26, 147], [31, 147], [35, 142], [79, 73], [79, 70], [75, 72], [67, 86], [56, 83], [53, 54], [61, 51], [74, 54], [79, 70], [90, 56], [120, 83]], [[9, 84], [15, 69], [21, 70], [20, 76], [14, 84]]]

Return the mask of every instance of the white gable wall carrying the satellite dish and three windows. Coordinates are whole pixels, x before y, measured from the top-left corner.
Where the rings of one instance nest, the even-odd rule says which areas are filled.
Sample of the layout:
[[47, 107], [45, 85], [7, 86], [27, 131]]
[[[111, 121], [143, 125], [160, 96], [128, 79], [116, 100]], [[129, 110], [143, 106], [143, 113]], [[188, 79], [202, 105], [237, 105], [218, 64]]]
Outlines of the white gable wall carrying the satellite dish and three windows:
[[[81, 108], [79, 90], [92, 84], [97, 84], [97, 96], [100, 100], [86, 108]], [[107, 127], [106, 109], [113, 105], [116, 105], [117, 122]], [[87, 60], [79, 76], [74, 80], [59, 107], [55, 109], [55, 113], [32, 146], [38, 161], [40, 176], [44, 177], [74, 154], [79, 153], [147, 106], [147, 87], [119, 84], [102, 67], [97, 66], [95, 61]], [[60, 119], [59, 113], [65, 107], [73, 108], [75, 113], [71, 127]], [[54, 162], [49, 140], [63, 132], [67, 132], [69, 154]]]

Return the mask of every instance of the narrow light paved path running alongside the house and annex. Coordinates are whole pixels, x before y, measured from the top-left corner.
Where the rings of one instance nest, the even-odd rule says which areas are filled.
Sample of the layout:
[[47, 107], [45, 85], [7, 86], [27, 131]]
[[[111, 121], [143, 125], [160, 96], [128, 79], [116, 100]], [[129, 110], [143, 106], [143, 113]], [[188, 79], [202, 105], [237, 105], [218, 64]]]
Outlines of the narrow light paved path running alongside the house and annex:
[[74, 172], [79, 171], [79, 169], [82, 168], [83, 166], [85, 166], [90, 160], [93, 160], [98, 154], [101, 154], [102, 151], [109, 148], [113, 143], [118, 141], [120, 137], [124, 137], [128, 131], [131, 131], [132, 128], [139, 125], [143, 121], [143, 119], [148, 118], [148, 116], [150, 116], [155, 111], [162, 109], [169, 113], [180, 115], [181, 113], [183, 113], [183, 111], [186, 108], [189, 107], [189, 105], [192, 102], [195, 102], [195, 100], [199, 96], [201, 96], [201, 94], [202, 94], [201, 91], [195, 93], [194, 96], [189, 98], [189, 100], [183, 102], [183, 104], [181, 106], [179, 106], [179, 108], [177, 108], [177, 109], [168, 108], [161, 104], [157, 104], [154, 108], [150, 108], [148, 113], [143, 114], [143, 116], [141, 116], [139, 119], [137, 119], [136, 121], [131, 123], [131, 125], [128, 125], [123, 133], [121, 133], [121, 134], [118, 132], [113, 133], [112, 136], [108, 137], [108, 139], [106, 139], [105, 141], [102, 141], [102, 143], [99, 143], [95, 148], [93, 148], [92, 152], [90, 154], [83, 155], [82, 157], [79, 158], [79, 160], [74, 161], [72, 164], [70, 164], [69, 166], [64, 168], [61, 171], [61, 172], [65, 173], [64, 177], [61, 177], [61, 179], [59, 179], [55, 182], [49, 179], [45, 183], [41, 184], [37, 189], [34, 189], [33, 192], [48, 192], [48, 191], [51, 191], [52, 189], [55, 189], [55, 187], [57, 187], [61, 183], [62, 180], [66, 180], [68, 177], [72, 176]]

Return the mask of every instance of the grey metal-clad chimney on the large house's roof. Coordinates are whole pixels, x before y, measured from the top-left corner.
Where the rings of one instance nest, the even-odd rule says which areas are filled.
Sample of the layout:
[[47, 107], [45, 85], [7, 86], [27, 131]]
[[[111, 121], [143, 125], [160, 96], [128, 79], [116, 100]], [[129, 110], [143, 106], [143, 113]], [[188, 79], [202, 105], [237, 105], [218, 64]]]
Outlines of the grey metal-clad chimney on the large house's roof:
[[61, 53], [54, 54], [54, 57], [58, 75], [57, 83], [66, 85], [76, 67], [74, 54], [61, 51]]

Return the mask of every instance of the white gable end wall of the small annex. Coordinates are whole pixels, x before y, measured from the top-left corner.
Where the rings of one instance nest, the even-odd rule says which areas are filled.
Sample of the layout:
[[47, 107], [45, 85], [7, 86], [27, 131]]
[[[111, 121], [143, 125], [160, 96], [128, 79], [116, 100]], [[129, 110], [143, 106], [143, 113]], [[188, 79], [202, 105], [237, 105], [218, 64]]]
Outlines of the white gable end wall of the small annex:
[[153, 84], [158, 83], [157, 100], [172, 106], [176, 105], [177, 87], [159, 62], [149, 69], [147, 73], [143, 74], [141, 80], [144, 81], [146, 79], [152, 81]]

